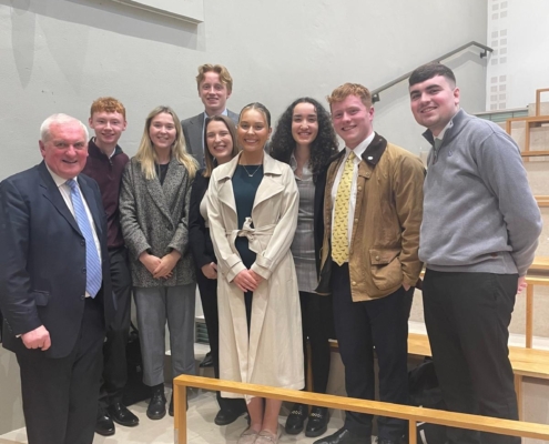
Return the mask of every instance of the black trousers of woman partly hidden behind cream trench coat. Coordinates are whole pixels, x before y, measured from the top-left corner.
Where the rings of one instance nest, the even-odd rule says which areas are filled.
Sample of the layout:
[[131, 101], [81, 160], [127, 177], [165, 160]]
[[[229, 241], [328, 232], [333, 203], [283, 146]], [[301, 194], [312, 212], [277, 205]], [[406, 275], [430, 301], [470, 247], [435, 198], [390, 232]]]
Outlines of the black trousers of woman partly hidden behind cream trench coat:
[[[210, 350], [215, 377], [220, 377], [220, 320], [217, 314], [217, 280], [207, 279], [202, 270], [196, 270], [196, 282], [199, 284], [202, 311], [206, 321], [207, 337], [210, 339]], [[217, 404], [223, 411], [244, 411], [246, 403], [241, 398], [222, 397], [217, 392]]]

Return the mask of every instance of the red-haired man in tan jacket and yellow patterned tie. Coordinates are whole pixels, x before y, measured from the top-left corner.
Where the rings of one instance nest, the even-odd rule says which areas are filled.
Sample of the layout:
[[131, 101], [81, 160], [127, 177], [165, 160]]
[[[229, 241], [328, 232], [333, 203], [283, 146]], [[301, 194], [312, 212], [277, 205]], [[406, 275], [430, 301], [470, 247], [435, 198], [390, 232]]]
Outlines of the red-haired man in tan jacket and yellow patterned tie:
[[[373, 400], [374, 346], [382, 401], [408, 403], [407, 339], [418, 259], [424, 168], [374, 132], [369, 91], [356, 83], [327, 98], [345, 149], [328, 167], [317, 292], [332, 293], [345, 386]], [[399, 443], [406, 423], [378, 418], [378, 443]], [[315, 444], [370, 443], [372, 415], [346, 412], [345, 424]]]

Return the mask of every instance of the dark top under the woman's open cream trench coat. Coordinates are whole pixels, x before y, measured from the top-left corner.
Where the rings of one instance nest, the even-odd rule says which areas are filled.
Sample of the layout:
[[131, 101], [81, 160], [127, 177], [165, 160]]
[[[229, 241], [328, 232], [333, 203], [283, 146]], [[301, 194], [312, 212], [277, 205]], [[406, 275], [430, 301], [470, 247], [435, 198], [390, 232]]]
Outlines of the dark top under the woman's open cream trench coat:
[[[236, 214], [238, 216], [238, 230], [242, 230], [246, 218], [252, 216], [255, 193], [263, 179], [263, 165], [237, 165], [233, 174], [233, 192], [236, 203]], [[252, 225], [253, 226], [253, 225]], [[250, 250], [247, 238], [237, 236], [235, 241], [236, 250], [242, 262], [250, 269], [255, 262], [256, 254]]]

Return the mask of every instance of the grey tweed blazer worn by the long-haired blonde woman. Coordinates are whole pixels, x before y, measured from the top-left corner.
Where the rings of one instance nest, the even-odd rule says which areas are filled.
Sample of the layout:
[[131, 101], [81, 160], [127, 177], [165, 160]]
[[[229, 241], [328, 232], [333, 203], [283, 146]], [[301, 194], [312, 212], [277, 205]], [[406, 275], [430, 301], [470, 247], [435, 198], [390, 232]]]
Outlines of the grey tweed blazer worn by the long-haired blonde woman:
[[[186, 168], [175, 159], [170, 161], [163, 185], [157, 178], [146, 180], [135, 158], [125, 165], [120, 192], [120, 223], [130, 250], [134, 286], [174, 286], [195, 282], [189, 249], [191, 184]], [[167, 280], [154, 279], [139, 261], [144, 251], [162, 258], [172, 250], [182, 256]]]

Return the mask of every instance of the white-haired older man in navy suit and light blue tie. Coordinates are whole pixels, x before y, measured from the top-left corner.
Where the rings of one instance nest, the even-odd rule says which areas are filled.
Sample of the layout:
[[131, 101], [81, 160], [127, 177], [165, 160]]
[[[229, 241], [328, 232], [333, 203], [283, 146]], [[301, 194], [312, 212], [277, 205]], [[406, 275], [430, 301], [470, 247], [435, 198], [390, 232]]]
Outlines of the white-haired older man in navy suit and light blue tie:
[[43, 162], [0, 184], [0, 306], [16, 353], [30, 444], [93, 441], [105, 325], [114, 314], [106, 220], [80, 174], [88, 131], [65, 114], [41, 127]]

